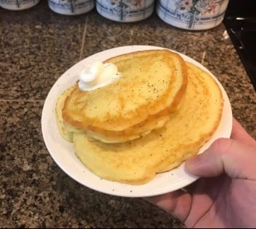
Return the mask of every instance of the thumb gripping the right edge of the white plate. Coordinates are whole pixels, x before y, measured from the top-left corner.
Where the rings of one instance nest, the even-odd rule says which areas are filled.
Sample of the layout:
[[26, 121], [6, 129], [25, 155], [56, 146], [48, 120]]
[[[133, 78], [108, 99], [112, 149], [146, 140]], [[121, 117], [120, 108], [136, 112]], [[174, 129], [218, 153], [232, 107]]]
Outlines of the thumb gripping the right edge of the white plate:
[[220, 138], [202, 154], [186, 161], [186, 170], [201, 177], [225, 172], [231, 178], [256, 179], [256, 148], [239, 141]]

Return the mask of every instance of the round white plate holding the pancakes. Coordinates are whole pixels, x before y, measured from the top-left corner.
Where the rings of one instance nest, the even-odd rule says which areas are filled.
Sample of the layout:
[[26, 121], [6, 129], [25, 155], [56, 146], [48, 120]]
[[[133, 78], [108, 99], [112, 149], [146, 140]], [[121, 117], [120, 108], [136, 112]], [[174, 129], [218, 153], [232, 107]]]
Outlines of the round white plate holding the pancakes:
[[[94, 175], [93, 172], [87, 170], [87, 168], [80, 162], [78, 157], [75, 156], [73, 143], [68, 143], [65, 141], [60, 135], [59, 130], [57, 128], [56, 117], [55, 117], [55, 104], [59, 95], [78, 80], [78, 74], [80, 70], [86, 65], [95, 61], [103, 61], [104, 59], [108, 59], [110, 57], [116, 56], [118, 54], [125, 54], [131, 51], [139, 51], [146, 49], [162, 49], [156, 46], [123, 46], [115, 49], [108, 49], [106, 51], [99, 52], [97, 54], [92, 55], [91, 57], [87, 57], [82, 61], [75, 64], [71, 67], [67, 72], [65, 72], [54, 86], [49, 91], [49, 94], [46, 98], [42, 118], [41, 118], [41, 126], [42, 133], [44, 136], [44, 141], [46, 143], [46, 147], [51, 154], [51, 157], [54, 161], [59, 165], [59, 167], [70, 175], [71, 178], [81, 183], [83, 186], [87, 186], [88, 188], [94, 189], [95, 191], [99, 191], [102, 193], [108, 193], [115, 196], [127, 196], [127, 197], [145, 197], [145, 196], [155, 196], [163, 193], [168, 193], [170, 191], [176, 191], [179, 188], [183, 188], [188, 186], [190, 183], [197, 180], [197, 177], [194, 177], [186, 172], [184, 165], [177, 167], [170, 172], [164, 172], [144, 185], [140, 186], [132, 186], [123, 183], [117, 183], [110, 180], [104, 180], [99, 178], [97, 175]], [[202, 64], [196, 62], [194, 59], [190, 57], [186, 57], [181, 54], [181, 57], [188, 62], [196, 64], [198, 67], [202, 68], [212, 75], [212, 73], [207, 70]], [[199, 151], [202, 152], [204, 149], [207, 149], [210, 144], [215, 141], [217, 138], [229, 138], [231, 135], [232, 128], [232, 110], [231, 104], [228, 100], [228, 96], [223, 89], [223, 86], [220, 85], [218, 80], [212, 75], [220, 89], [223, 93], [224, 98], [224, 107], [223, 107], [223, 115], [221, 117], [220, 125], [218, 129], [215, 131], [210, 141], [208, 141], [205, 146]]]

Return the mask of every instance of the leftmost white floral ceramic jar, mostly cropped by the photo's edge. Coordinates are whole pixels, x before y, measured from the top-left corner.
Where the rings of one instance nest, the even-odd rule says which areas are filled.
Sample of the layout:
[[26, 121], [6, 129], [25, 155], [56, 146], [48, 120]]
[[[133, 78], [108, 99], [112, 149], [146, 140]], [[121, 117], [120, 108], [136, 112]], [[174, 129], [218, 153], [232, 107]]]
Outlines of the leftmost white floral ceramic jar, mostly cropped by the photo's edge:
[[10, 10], [29, 9], [36, 6], [40, 0], [0, 0], [0, 7]]

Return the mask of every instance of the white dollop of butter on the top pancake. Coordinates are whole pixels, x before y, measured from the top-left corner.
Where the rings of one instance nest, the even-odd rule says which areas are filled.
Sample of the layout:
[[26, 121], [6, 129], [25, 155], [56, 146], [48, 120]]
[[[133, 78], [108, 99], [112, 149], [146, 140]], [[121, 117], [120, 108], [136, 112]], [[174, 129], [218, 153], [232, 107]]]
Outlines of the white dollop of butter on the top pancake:
[[107, 86], [120, 77], [121, 73], [115, 64], [94, 62], [80, 72], [78, 87], [81, 91], [92, 91]]

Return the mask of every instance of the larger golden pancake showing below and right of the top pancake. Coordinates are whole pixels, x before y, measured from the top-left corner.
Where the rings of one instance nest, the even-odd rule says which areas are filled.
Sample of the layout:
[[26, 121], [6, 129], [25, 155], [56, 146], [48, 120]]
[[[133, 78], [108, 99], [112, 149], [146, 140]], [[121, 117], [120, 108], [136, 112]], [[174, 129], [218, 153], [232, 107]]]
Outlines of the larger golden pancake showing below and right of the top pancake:
[[74, 133], [75, 153], [89, 170], [107, 180], [141, 184], [197, 154], [220, 122], [223, 97], [207, 72], [187, 63], [188, 85], [178, 111], [165, 127], [126, 143], [102, 143]]

